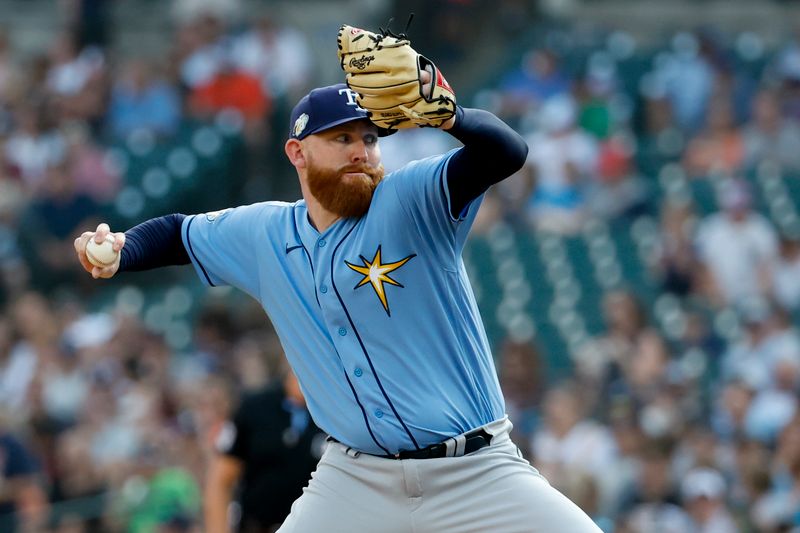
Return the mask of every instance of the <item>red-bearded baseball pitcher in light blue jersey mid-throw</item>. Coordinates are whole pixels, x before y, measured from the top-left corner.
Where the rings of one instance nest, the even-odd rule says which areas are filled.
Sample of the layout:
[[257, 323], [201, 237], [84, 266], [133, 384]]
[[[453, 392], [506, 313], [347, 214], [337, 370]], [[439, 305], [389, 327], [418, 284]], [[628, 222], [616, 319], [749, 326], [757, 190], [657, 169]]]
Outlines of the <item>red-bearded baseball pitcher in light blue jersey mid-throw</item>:
[[[112, 233], [95, 278], [191, 263], [257, 299], [329, 446], [279, 530], [596, 532], [509, 438], [492, 354], [461, 259], [481, 203], [523, 139], [456, 104], [407, 38], [343, 26], [347, 84], [294, 107], [286, 156], [303, 198], [172, 214]], [[434, 127], [463, 146], [384, 176], [379, 139]], [[269, 502], [264, 502], [268, 505]]]

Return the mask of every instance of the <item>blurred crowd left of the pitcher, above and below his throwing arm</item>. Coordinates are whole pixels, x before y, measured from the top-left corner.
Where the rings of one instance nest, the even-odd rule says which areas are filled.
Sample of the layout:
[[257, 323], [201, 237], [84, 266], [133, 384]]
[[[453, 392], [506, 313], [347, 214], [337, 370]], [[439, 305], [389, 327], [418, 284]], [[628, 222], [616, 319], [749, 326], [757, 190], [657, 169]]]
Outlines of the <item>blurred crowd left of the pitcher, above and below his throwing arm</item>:
[[157, 57], [111, 46], [108, 3], [60, 6], [40, 53], [0, 27], [0, 531], [199, 531], [219, 428], [280, 377], [274, 334], [259, 310], [207, 307], [176, 354], [141, 317], [89, 305], [98, 286], [72, 241], [127, 184], [112, 147], [220, 113], [248, 148], [246, 175], [226, 179], [268, 190], [275, 110], [310, 87], [313, 56], [306, 35], [236, 2], [174, 2]]

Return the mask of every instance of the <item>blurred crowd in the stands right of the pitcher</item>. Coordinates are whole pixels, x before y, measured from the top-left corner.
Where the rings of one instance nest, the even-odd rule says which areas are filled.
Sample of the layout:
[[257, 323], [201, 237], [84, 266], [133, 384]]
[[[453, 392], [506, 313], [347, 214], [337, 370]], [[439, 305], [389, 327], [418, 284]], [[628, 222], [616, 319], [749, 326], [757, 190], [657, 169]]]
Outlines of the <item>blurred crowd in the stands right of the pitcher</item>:
[[480, 95], [530, 153], [476, 232], [568, 241], [592, 221], [653, 221], [641, 262], [681, 321], [664, 331], [622, 279], [557, 383], [546, 347], [507, 340], [518, 441], [604, 531], [800, 531], [800, 40], [767, 52], [703, 29], [643, 53], [612, 33], [583, 54], [544, 41]]

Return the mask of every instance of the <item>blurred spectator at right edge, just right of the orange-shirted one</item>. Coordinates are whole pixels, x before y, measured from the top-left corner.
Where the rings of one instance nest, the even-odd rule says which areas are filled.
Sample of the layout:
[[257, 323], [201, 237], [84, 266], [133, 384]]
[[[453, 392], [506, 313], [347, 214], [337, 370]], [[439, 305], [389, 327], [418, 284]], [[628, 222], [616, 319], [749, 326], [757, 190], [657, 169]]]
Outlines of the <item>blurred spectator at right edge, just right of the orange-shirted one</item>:
[[764, 89], [756, 95], [743, 142], [745, 168], [770, 161], [788, 172], [800, 171], [800, 126], [782, 115], [776, 91]]

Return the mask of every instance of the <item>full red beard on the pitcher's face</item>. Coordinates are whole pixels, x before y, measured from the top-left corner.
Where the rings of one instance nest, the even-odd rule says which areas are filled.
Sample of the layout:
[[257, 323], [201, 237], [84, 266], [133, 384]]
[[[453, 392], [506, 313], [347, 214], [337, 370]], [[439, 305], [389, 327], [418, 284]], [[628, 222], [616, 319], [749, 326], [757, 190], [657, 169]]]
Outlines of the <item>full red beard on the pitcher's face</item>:
[[[365, 176], [348, 176], [360, 172]], [[360, 217], [369, 209], [372, 194], [383, 179], [383, 165], [370, 167], [365, 163], [338, 169], [323, 168], [309, 161], [308, 189], [326, 211], [340, 217]]]

